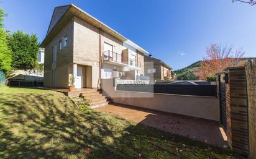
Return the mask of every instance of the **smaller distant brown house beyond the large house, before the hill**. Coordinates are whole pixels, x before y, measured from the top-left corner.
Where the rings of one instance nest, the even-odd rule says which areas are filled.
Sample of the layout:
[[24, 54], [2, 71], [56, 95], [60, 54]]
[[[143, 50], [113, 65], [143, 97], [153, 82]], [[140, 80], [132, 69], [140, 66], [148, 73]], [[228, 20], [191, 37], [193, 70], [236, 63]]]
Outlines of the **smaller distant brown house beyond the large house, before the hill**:
[[160, 59], [144, 56], [145, 75], [154, 80], [174, 80], [171, 67]]

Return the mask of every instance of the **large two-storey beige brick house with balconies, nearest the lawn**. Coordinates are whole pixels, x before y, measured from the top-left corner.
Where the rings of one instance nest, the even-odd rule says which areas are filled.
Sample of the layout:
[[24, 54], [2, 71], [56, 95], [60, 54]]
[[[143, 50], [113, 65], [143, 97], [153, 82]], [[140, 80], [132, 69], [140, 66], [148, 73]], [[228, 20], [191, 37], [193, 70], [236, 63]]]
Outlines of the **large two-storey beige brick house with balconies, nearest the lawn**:
[[46, 87], [98, 88], [101, 79], [136, 80], [144, 75], [145, 49], [74, 4], [55, 7], [45, 48]]

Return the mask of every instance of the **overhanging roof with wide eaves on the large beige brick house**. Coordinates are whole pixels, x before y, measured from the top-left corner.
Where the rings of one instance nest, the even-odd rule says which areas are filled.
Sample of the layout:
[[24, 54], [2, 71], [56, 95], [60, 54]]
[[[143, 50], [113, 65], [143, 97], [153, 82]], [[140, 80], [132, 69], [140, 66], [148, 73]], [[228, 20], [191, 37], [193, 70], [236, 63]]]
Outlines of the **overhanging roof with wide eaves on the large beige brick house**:
[[109, 35], [112, 35], [113, 37], [121, 40], [124, 43], [127, 43], [128, 45], [134, 47], [135, 49], [139, 50], [141, 53], [148, 53], [145, 51], [145, 49], [141, 48], [139, 45], [136, 45], [120, 33], [116, 32], [116, 30], [112, 29], [111, 27], [108, 27], [103, 22], [99, 21], [98, 19], [94, 18], [92, 15], [89, 15], [87, 12], [80, 9], [80, 7], [76, 6], [75, 4], [70, 4], [66, 6], [59, 6], [55, 7], [52, 15], [51, 22], [49, 24], [47, 35], [45, 39], [40, 44], [40, 47], [43, 47], [47, 45], [47, 43], [50, 41], [51, 37], [54, 37], [61, 28], [71, 20], [73, 16], [79, 17], [80, 19], [85, 20], [89, 24], [93, 25], [94, 27], [97, 27], [101, 29], [103, 32], [108, 33]]

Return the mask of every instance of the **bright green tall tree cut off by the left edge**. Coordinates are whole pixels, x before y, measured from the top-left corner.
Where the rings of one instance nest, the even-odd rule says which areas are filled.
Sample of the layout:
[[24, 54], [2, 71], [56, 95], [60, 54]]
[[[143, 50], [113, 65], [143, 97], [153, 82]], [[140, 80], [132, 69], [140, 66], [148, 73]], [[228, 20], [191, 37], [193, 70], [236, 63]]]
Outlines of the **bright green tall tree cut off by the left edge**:
[[8, 72], [11, 70], [12, 53], [7, 46], [7, 32], [2, 23], [5, 15], [4, 10], [0, 7], [0, 70]]

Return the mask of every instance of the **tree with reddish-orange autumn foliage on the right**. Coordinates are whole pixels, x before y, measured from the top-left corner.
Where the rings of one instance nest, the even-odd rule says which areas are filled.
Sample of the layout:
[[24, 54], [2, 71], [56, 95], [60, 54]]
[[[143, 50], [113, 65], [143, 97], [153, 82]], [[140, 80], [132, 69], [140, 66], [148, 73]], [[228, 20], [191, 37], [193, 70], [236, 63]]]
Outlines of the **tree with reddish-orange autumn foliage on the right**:
[[244, 55], [242, 50], [233, 51], [232, 46], [221, 46], [217, 44], [206, 48], [206, 56], [200, 64], [199, 79], [212, 77], [217, 73], [224, 72], [227, 67], [243, 66], [244, 62], [240, 60]]

